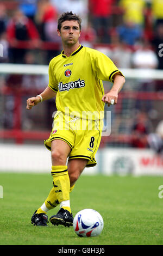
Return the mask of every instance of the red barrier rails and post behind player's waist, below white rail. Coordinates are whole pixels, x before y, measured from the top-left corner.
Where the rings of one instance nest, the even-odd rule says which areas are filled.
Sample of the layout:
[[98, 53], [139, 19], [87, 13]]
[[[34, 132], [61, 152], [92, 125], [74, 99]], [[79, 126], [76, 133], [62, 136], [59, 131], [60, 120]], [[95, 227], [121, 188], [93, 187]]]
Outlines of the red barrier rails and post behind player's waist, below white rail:
[[[14, 126], [12, 130], [0, 130], [1, 139], [14, 139], [16, 143], [23, 143], [25, 140], [43, 140], [49, 137], [51, 131], [23, 131], [21, 130], [21, 111], [22, 111], [22, 96], [28, 95], [26, 90], [18, 90], [15, 93], [11, 92], [7, 88], [3, 88], [1, 94], [14, 95], [15, 107], [14, 107]], [[40, 92], [33, 90], [30, 94], [36, 95]], [[28, 97], [28, 96], [27, 96]], [[139, 100], [163, 100], [163, 92], [121, 92], [118, 97], [118, 103], [115, 106], [117, 113], [121, 112], [123, 99], [139, 99]], [[17, 104], [17, 102], [19, 102]], [[109, 137], [102, 137], [101, 147], [108, 142], [129, 143], [131, 139], [130, 135], [110, 135]]]

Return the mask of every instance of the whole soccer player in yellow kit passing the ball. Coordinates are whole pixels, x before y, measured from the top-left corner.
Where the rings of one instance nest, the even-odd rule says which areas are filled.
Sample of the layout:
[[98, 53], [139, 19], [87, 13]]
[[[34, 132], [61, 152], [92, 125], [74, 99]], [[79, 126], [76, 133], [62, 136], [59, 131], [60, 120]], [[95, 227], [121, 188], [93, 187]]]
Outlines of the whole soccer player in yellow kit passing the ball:
[[[58, 20], [63, 51], [49, 63], [49, 84], [27, 100], [27, 109], [56, 96], [57, 113], [45, 146], [51, 150], [53, 187], [32, 216], [34, 225], [47, 225], [47, 211], [60, 204], [49, 221], [70, 227], [73, 215], [70, 192], [85, 167], [96, 165], [95, 154], [102, 136], [104, 104], [117, 103], [125, 78], [103, 53], [79, 44], [81, 19], [72, 12]], [[111, 81], [104, 93], [102, 81]]]

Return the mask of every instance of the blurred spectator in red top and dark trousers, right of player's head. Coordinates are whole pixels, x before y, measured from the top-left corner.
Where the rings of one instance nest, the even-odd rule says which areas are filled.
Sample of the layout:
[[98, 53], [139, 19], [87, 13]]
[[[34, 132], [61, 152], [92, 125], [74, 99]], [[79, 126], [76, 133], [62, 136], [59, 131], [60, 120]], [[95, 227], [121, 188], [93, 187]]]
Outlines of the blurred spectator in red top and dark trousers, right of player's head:
[[114, 2], [114, 0], [89, 0], [89, 11], [98, 42], [110, 42], [111, 7]]

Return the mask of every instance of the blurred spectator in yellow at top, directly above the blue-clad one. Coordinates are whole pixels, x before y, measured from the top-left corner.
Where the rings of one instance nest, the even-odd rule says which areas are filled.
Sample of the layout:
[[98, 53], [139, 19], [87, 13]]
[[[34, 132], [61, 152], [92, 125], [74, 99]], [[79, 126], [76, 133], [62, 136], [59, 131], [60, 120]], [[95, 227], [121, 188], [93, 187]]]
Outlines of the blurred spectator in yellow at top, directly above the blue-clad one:
[[133, 22], [135, 25], [143, 27], [145, 0], [120, 0], [119, 5], [123, 10], [124, 22]]

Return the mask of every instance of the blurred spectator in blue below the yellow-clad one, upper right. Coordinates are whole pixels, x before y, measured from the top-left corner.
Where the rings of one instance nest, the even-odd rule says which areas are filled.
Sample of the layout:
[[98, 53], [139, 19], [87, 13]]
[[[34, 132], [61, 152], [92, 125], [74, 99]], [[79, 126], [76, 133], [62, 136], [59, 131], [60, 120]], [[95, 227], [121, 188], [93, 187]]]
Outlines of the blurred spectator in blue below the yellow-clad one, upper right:
[[142, 36], [142, 29], [132, 21], [126, 21], [117, 27], [117, 33], [120, 40], [129, 46], [134, 46]]

